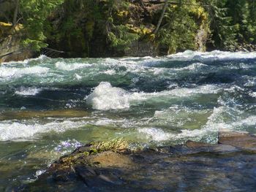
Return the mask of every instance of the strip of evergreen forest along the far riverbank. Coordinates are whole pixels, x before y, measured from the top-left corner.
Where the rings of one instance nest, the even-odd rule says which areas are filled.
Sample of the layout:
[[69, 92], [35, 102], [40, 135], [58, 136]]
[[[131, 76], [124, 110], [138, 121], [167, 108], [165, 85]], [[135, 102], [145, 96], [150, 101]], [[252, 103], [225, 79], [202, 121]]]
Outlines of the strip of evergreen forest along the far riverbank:
[[63, 57], [252, 51], [256, 44], [255, 0], [2, 0], [0, 7], [2, 47], [15, 36], [18, 47]]

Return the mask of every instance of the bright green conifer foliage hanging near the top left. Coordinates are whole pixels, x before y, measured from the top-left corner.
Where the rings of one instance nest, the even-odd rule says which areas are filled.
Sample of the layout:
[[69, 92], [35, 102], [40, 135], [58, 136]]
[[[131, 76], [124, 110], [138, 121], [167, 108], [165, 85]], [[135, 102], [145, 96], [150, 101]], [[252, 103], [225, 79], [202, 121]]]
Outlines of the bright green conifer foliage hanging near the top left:
[[34, 50], [46, 47], [44, 25], [45, 20], [64, 0], [20, 0], [20, 13], [25, 30], [24, 46], [31, 46]]

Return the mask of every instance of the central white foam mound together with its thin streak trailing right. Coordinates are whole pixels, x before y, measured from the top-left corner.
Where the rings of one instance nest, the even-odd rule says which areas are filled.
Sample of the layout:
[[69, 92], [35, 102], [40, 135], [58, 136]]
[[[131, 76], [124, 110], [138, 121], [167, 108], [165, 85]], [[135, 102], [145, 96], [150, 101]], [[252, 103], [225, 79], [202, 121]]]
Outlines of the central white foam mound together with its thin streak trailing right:
[[187, 97], [196, 94], [218, 93], [219, 90], [220, 88], [216, 85], [201, 85], [196, 88], [175, 88], [154, 93], [128, 93], [124, 89], [111, 86], [109, 82], [100, 82], [86, 101], [95, 110], [120, 110], [129, 108], [130, 102], [133, 101], [143, 101], [154, 97]]

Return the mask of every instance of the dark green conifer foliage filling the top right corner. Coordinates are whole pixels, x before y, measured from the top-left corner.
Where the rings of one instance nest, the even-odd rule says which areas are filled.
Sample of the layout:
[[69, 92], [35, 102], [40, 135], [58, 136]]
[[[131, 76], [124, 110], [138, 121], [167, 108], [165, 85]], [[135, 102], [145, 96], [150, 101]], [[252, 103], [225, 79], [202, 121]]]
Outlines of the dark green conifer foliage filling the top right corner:
[[256, 42], [255, 0], [204, 0], [215, 47], [238, 50]]

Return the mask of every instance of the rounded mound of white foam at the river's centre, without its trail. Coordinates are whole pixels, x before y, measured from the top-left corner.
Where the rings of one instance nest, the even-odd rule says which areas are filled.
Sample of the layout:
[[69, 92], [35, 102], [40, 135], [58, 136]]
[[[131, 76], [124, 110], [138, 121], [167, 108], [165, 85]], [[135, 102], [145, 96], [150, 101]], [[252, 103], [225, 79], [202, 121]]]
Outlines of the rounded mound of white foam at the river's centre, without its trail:
[[129, 108], [127, 92], [115, 88], [109, 82], [100, 82], [97, 88], [86, 98], [95, 110], [119, 110]]

